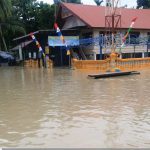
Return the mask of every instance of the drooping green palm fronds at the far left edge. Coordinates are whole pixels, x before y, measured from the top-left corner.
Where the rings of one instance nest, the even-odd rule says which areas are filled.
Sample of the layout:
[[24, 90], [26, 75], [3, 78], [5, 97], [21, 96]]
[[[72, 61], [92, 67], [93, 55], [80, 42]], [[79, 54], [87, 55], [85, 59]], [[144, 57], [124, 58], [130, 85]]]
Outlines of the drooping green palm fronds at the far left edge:
[[[14, 15], [15, 16], [15, 15]], [[12, 13], [10, 0], [0, 0], [0, 49], [7, 51], [11, 45], [11, 37], [16, 33], [24, 34], [25, 31]]]

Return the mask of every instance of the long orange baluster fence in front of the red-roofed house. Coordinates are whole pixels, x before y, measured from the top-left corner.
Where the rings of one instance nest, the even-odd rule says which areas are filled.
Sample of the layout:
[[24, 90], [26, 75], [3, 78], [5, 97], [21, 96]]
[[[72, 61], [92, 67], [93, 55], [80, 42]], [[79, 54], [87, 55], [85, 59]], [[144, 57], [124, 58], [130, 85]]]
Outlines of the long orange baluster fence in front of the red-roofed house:
[[[72, 67], [74, 69], [85, 69], [85, 70], [99, 70], [105, 72], [110, 69], [111, 60], [72, 60]], [[115, 67], [123, 70], [140, 70], [150, 68], [150, 58], [130, 58], [115, 60]]]

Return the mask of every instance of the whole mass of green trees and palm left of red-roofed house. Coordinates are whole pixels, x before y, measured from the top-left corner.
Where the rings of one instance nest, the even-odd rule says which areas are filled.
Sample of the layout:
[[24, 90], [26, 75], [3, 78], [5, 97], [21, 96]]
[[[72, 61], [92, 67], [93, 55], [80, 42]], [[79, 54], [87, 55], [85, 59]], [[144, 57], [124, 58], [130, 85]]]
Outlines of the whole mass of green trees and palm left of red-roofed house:
[[25, 33], [53, 28], [54, 10], [37, 0], [0, 0], [0, 49], [12, 47], [12, 39]]

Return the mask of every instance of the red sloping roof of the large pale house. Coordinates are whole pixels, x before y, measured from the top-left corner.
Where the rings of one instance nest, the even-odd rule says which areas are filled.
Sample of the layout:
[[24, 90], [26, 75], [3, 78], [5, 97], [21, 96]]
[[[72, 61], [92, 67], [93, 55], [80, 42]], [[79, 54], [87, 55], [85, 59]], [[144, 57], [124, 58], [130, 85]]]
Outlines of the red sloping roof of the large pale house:
[[[72, 3], [62, 3], [62, 7], [66, 7], [84, 23], [93, 28], [105, 27], [105, 7], [92, 6]], [[149, 9], [127, 9], [121, 8], [121, 27], [129, 28], [131, 20], [138, 17], [135, 29], [150, 29], [150, 10]]]

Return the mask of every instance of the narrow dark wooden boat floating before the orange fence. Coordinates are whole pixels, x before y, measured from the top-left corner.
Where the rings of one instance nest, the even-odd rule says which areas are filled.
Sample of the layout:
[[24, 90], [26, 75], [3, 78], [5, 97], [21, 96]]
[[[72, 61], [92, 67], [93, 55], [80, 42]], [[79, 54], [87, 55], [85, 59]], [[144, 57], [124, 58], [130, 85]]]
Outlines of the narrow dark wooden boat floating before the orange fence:
[[99, 79], [99, 78], [110, 78], [110, 77], [127, 76], [127, 75], [135, 75], [135, 74], [140, 74], [140, 72], [138, 72], [138, 71], [107, 72], [107, 73], [104, 73], [104, 74], [88, 75], [88, 77], [91, 77], [91, 78], [94, 78], [94, 79]]

